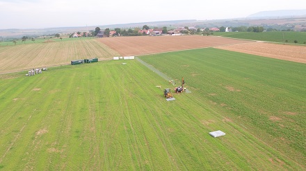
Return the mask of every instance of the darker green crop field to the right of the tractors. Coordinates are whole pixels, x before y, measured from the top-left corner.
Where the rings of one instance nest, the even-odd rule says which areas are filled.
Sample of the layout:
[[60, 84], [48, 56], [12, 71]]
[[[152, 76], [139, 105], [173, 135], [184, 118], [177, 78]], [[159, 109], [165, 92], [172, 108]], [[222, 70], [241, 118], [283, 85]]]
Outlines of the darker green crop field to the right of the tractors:
[[223, 117], [241, 123], [266, 145], [305, 163], [305, 64], [214, 48], [141, 59], [171, 78], [184, 75], [187, 88], [222, 109]]

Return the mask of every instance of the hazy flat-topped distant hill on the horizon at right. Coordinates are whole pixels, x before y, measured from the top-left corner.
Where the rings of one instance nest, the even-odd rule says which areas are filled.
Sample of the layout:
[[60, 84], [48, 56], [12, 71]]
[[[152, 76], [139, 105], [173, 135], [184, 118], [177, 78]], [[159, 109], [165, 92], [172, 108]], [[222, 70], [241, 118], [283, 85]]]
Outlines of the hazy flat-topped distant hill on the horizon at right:
[[247, 18], [262, 18], [262, 17], [293, 17], [306, 15], [306, 10], [273, 10], [261, 11], [249, 15]]

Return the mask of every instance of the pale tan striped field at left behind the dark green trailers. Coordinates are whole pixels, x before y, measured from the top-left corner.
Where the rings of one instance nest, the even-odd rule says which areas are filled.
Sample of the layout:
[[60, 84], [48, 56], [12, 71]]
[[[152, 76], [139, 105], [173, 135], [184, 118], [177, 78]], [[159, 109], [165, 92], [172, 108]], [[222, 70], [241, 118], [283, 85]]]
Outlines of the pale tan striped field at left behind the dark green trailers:
[[97, 39], [63, 39], [57, 42], [36, 42], [16, 46], [0, 46], [0, 73], [38, 67], [70, 64], [85, 58], [109, 59], [117, 52]]

